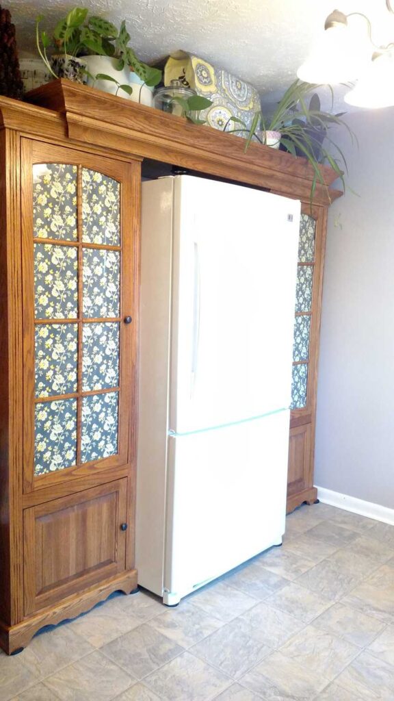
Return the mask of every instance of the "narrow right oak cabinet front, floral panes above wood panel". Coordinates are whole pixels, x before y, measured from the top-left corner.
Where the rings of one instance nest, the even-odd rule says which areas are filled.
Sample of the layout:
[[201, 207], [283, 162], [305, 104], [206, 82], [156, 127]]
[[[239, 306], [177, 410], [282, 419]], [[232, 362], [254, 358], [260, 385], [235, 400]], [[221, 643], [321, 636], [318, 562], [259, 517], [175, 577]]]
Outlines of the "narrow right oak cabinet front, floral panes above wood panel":
[[292, 368], [287, 511], [316, 499], [313, 487], [316, 390], [327, 211], [302, 205]]

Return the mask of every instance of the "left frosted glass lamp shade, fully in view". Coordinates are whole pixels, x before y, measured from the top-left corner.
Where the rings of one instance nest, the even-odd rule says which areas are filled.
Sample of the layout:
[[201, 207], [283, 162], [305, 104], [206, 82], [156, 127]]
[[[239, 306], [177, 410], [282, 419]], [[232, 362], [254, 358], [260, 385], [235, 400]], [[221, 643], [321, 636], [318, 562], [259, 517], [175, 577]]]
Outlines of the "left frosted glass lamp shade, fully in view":
[[297, 71], [306, 83], [347, 83], [360, 75], [360, 64], [370, 57], [370, 50], [347, 25], [325, 29], [311, 55]]

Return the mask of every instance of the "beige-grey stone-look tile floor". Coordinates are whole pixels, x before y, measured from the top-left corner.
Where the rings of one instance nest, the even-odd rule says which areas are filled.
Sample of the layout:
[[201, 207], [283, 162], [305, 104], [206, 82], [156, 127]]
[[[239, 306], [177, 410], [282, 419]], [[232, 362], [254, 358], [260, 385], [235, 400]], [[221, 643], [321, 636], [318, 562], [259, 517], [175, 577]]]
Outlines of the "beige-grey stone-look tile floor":
[[324, 504], [165, 608], [147, 592], [0, 653], [0, 701], [394, 700], [394, 526]]

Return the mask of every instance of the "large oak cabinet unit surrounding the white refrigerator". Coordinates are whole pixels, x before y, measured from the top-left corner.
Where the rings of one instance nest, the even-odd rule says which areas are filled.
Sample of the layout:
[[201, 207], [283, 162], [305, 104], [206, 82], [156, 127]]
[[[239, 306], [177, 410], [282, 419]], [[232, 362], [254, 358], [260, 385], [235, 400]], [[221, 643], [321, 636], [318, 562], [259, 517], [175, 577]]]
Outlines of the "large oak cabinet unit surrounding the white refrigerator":
[[[302, 200], [304, 159], [67, 80], [0, 97], [0, 646], [137, 585], [140, 182], [145, 159]], [[315, 186], [307, 399], [290, 505], [311, 491], [325, 212]], [[304, 212], [307, 212], [305, 209]], [[240, 232], [242, 236], [242, 232]], [[320, 246], [320, 248], [319, 248]], [[299, 322], [301, 324], [301, 322]], [[304, 321], [303, 328], [308, 325]], [[301, 324], [302, 325], [302, 324]], [[295, 501], [294, 501], [295, 500]]]

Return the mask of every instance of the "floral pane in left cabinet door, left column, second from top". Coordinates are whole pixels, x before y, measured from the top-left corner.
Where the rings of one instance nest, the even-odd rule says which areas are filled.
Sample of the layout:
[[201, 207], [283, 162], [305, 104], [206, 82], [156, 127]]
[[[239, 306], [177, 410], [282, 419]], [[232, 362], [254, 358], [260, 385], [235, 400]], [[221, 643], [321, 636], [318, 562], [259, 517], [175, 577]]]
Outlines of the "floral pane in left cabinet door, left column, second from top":
[[34, 243], [36, 319], [78, 316], [78, 250], [74, 246]]

